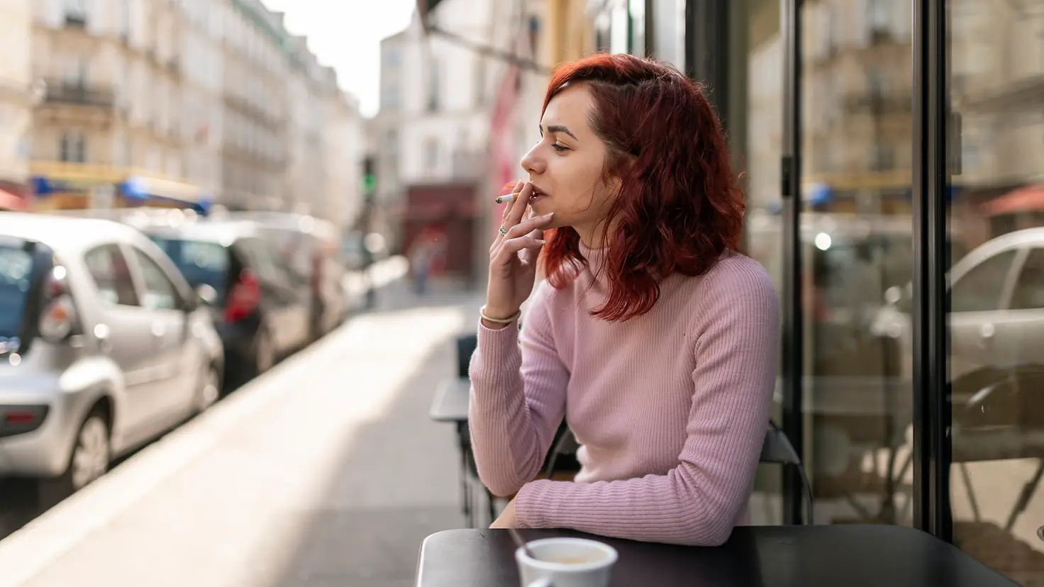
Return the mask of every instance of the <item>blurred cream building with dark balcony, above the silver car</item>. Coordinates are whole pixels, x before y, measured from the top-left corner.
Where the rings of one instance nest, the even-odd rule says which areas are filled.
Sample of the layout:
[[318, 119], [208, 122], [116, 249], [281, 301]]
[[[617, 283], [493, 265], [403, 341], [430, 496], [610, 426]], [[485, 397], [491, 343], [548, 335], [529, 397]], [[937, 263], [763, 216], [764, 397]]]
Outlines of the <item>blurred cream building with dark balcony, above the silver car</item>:
[[180, 8], [160, 0], [33, 2], [38, 208], [201, 197], [185, 181]]

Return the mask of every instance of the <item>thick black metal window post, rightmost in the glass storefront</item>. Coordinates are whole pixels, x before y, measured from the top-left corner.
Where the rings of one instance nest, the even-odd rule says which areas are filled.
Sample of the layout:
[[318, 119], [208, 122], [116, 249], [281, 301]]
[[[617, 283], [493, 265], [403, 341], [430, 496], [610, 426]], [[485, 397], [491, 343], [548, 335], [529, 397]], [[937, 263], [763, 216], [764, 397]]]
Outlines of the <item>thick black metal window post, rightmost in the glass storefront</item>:
[[949, 541], [945, 18], [914, 0], [914, 525]]

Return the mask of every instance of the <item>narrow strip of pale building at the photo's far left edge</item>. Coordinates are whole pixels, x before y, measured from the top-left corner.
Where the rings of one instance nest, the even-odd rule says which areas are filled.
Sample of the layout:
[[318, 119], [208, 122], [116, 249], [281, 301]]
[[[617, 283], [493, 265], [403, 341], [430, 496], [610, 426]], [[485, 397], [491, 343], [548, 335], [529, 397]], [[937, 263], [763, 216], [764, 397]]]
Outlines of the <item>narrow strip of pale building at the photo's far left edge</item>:
[[29, 53], [32, 3], [2, 0], [0, 15], [9, 27], [0, 60], [0, 209], [20, 210], [26, 206], [32, 107], [41, 91]]

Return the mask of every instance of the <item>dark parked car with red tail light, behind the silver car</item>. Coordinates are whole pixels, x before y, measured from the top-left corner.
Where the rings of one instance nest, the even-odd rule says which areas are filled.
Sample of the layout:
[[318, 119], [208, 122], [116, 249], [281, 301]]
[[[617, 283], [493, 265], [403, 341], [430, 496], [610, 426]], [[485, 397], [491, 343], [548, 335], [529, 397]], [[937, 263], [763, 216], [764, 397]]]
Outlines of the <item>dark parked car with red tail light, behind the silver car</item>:
[[212, 309], [229, 373], [264, 373], [311, 339], [312, 290], [279, 262], [257, 222], [135, 224], [162, 249]]

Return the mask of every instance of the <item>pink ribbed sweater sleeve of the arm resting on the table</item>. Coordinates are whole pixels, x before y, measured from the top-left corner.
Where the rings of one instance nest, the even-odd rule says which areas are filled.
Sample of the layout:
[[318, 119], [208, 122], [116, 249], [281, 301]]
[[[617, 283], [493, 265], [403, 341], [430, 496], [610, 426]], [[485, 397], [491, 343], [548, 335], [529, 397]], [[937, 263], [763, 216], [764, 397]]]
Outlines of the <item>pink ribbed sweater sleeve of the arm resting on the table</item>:
[[728, 540], [748, 506], [768, 422], [779, 300], [745, 258], [712, 269], [699, 297], [692, 407], [674, 468], [623, 480], [529, 483], [516, 498], [520, 526], [701, 546]]

